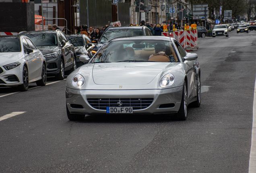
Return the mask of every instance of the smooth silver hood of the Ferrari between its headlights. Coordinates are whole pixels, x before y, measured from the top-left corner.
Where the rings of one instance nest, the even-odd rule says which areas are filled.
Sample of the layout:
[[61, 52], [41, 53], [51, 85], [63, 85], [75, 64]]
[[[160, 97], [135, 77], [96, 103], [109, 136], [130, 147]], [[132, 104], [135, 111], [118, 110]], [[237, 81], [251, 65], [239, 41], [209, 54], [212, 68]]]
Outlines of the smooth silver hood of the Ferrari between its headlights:
[[93, 81], [100, 85], [149, 84], [169, 63], [112, 62], [95, 64]]

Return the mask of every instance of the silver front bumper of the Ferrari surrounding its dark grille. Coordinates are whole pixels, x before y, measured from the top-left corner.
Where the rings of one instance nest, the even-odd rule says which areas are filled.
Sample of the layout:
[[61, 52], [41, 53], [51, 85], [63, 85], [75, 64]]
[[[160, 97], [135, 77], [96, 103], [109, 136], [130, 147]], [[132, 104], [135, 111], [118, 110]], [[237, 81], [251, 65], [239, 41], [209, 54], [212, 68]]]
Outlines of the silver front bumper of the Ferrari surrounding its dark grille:
[[[183, 87], [154, 90], [76, 90], [66, 87], [66, 104], [70, 113], [74, 114], [106, 114], [106, 110], [93, 108], [89, 98], [153, 98], [153, 102], [145, 109], [133, 110], [133, 114], [176, 113], [180, 109]], [[80, 108], [71, 107], [78, 105]], [[160, 105], [172, 107], [159, 108]], [[118, 107], [118, 104], [116, 104]]]

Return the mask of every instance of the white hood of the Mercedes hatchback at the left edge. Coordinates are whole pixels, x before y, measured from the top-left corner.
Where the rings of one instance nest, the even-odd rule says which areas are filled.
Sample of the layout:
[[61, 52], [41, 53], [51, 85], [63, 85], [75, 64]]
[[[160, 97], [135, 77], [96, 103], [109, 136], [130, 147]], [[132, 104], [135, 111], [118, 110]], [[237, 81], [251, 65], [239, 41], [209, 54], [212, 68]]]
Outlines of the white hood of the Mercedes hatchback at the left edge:
[[22, 52], [1, 52], [0, 53], [0, 66], [15, 62], [23, 55]]

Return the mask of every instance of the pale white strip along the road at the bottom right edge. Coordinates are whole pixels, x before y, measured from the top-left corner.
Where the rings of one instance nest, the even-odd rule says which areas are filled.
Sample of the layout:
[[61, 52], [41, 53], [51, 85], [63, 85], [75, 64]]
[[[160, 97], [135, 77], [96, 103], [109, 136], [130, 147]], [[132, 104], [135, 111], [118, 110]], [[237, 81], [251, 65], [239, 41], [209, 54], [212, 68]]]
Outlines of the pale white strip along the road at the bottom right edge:
[[249, 173], [256, 170], [256, 81], [254, 86], [253, 113], [252, 113], [252, 144], [249, 160]]

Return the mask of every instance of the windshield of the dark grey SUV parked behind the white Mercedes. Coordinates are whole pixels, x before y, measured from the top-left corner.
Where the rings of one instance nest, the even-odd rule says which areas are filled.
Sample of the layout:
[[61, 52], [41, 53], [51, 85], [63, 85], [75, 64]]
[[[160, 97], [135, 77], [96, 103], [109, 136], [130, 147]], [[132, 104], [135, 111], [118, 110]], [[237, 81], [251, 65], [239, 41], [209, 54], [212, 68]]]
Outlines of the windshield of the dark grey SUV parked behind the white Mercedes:
[[57, 46], [56, 35], [52, 33], [33, 33], [26, 34], [35, 46]]

